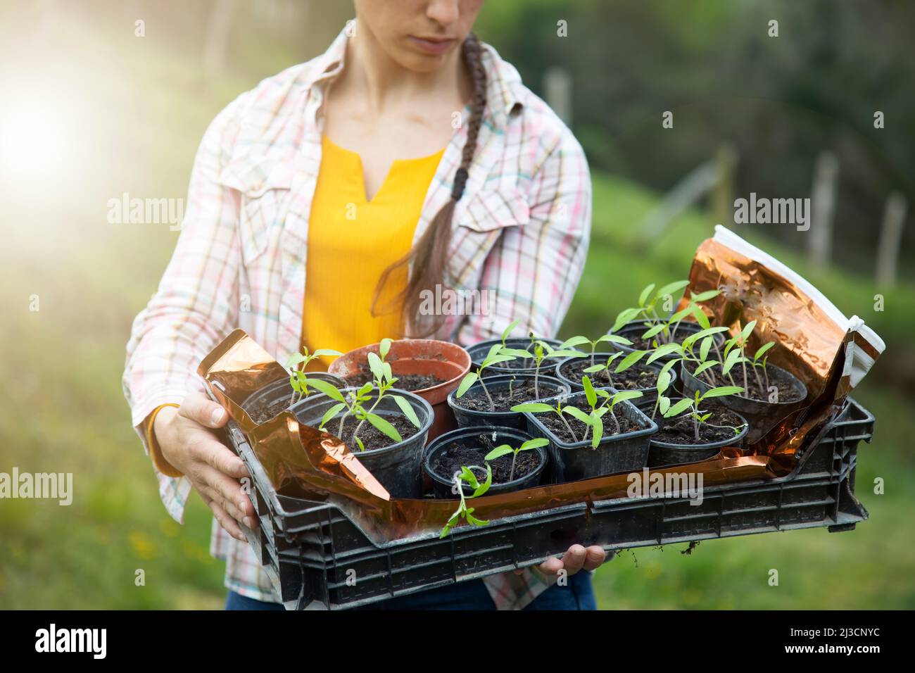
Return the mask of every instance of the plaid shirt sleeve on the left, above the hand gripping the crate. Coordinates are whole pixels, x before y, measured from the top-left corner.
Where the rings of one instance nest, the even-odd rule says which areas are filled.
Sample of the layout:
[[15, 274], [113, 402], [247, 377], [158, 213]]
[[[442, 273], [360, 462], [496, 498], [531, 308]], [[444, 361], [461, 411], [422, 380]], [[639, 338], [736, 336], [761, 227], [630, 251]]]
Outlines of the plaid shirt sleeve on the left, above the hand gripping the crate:
[[[238, 320], [239, 196], [219, 177], [231, 157], [243, 104], [242, 96], [223, 110], [200, 143], [175, 252], [127, 343], [124, 396], [147, 454], [145, 418], [202, 388], [197, 365]], [[154, 469], [162, 501], [180, 522], [190, 483]]]

